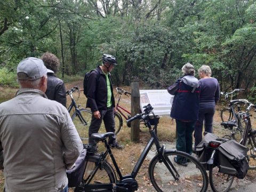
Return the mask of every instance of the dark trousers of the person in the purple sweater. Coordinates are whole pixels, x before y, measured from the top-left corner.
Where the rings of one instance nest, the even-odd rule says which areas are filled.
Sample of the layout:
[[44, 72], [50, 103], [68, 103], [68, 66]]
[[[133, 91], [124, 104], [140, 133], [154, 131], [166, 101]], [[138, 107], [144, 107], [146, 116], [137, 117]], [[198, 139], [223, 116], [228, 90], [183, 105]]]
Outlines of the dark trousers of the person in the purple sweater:
[[202, 141], [202, 132], [203, 125], [204, 131], [213, 133], [212, 123], [213, 123], [213, 115], [215, 113], [215, 103], [200, 103], [199, 104], [199, 114], [198, 121], [195, 126], [195, 146]]

